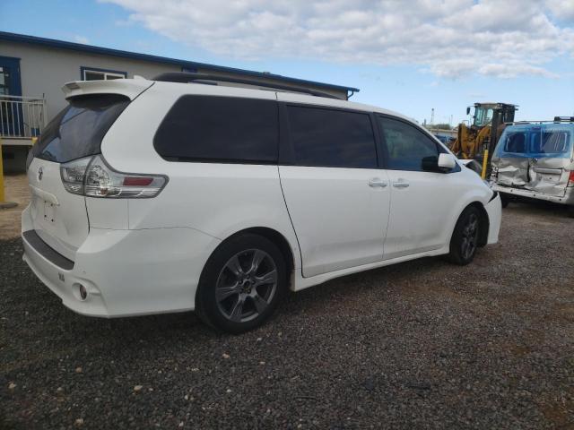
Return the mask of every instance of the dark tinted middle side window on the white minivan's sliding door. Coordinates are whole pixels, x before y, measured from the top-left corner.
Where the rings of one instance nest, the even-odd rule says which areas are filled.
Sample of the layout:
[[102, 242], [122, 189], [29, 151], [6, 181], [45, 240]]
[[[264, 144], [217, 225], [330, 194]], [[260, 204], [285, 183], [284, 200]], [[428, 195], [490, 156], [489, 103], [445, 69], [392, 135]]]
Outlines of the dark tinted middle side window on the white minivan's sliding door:
[[377, 168], [370, 116], [342, 110], [288, 106], [298, 166]]

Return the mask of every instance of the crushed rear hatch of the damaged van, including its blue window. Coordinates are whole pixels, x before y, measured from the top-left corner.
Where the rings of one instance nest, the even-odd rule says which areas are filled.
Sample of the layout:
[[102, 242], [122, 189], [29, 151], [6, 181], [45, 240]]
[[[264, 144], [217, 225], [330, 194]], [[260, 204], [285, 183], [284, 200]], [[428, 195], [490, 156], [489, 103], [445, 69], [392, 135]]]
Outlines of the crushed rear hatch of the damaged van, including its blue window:
[[498, 185], [561, 197], [570, 176], [570, 125], [507, 127], [492, 158]]

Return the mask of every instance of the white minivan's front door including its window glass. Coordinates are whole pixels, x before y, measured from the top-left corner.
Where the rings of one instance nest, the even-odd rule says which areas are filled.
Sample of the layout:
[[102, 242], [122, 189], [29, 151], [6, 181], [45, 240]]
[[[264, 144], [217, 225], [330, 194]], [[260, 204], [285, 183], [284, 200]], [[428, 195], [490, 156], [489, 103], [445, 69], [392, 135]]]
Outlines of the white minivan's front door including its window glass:
[[438, 158], [438, 143], [398, 118], [379, 116], [379, 124], [391, 190], [385, 260], [439, 249], [452, 232], [447, 221], [465, 192], [457, 177], [460, 168], [448, 174], [424, 171], [422, 159]]

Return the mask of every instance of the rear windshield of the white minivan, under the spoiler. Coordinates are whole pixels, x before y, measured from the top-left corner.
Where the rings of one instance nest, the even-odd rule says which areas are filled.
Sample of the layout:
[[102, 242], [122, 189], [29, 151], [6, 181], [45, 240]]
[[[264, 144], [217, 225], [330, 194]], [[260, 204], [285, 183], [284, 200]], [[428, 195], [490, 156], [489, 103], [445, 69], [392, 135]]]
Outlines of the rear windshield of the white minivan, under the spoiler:
[[129, 103], [126, 96], [96, 94], [69, 100], [44, 129], [32, 153], [65, 163], [100, 153], [101, 140]]

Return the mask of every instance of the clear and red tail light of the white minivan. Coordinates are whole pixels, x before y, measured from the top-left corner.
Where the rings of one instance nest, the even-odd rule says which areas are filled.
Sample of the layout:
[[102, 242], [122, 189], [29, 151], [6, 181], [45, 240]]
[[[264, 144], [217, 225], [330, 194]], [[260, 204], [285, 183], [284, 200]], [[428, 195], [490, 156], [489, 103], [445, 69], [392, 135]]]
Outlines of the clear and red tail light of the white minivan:
[[60, 174], [67, 192], [86, 197], [150, 198], [168, 183], [168, 176], [117, 172], [101, 155], [62, 164]]

